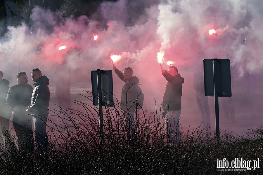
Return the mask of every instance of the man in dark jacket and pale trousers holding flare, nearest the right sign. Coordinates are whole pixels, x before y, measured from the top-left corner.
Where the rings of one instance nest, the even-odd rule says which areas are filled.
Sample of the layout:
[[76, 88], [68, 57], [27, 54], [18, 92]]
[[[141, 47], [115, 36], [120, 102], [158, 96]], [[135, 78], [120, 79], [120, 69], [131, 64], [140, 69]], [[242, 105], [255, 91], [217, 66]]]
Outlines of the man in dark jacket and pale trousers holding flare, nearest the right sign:
[[184, 78], [178, 74], [178, 69], [175, 66], [170, 66], [168, 71], [161, 69], [161, 72], [162, 76], [168, 81], [162, 100], [166, 133], [171, 143], [177, 143], [181, 140], [179, 118]]

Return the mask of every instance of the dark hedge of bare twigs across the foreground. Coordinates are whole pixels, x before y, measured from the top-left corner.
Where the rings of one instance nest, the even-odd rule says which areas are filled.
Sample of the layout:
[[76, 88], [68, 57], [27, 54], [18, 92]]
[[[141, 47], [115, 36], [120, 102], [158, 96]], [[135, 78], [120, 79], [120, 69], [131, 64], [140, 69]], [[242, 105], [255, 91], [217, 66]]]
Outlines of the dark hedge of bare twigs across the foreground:
[[[87, 93], [86, 98], [92, 97]], [[52, 118], [60, 122], [48, 122], [48, 153], [28, 154], [15, 144], [8, 150], [2, 148], [0, 174], [227, 174], [217, 168], [217, 159], [223, 158], [259, 158], [259, 168], [231, 174], [263, 173], [262, 127], [243, 136], [221, 131], [219, 146], [210, 128], [188, 129], [181, 133], [182, 141], [173, 145], [167, 142], [156, 108], [147, 116], [140, 111], [136, 117], [138, 139], [133, 139], [116, 101], [114, 107], [104, 107], [101, 139], [97, 107], [89, 102], [74, 103], [77, 110], [50, 109]]]

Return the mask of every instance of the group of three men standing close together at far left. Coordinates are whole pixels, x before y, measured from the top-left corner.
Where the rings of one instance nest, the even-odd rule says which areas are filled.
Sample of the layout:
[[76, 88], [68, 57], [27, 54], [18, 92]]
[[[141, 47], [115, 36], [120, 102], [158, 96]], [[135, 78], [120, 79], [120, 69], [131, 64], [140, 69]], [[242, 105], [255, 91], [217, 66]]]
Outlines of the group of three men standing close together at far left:
[[[0, 74], [3, 77], [3, 72], [0, 72]], [[1, 120], [1, 148], [4, 148], [5, 145], [8, 151], [12, 148], [11, 144], [14, 143], [9, 130], [9, 120], [12, 118], [19, 150], [33, 153], [32, 125], [34, 124], [37, 150], [38, 152], [47, 152], [46, 122], [49, 114], [49, 79], [44, 75], [42, 76], [42, 72], [38, 68], [32, 69], [31, 74], [35, 86], [34, 89], [27, 84], [26, 72], [19, 72], [16, 78], [17, 85], [13, 85], [10, 88], [8, 88], [9, 82], [6, 79], [0, 81], [1, 84], [3, 84], [2, 82], [6, 83], [5, 88], [8, 89], [8, 91], [4, 91], [3, 86], [1, 86], [1, 112], [3, 112], [1, 117], [5, 118], [5, 122]], [[4, 101], [6, 101], [6, 104], [3, 103]]]

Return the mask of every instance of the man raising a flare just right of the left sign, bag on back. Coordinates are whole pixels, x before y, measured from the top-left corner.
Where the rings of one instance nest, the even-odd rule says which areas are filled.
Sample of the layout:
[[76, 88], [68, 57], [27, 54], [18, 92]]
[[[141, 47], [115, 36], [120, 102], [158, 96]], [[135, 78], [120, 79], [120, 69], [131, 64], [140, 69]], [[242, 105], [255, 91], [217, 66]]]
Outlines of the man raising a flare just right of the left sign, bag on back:
[[136, 125], [134, 120], [134, 113], [138, 108], [138, 98], [143, 95], [141, 88], [139, 88], [139, 79], [132, 76], [133, 71], [130, 67], [124, 69], [123, 73], [113, 65], [113, 69], [117, 76], [125, 82], [122, 87], [121, 104], [120, 107], [124, 111], [126, 125], [130, 130], [131, 136], [137, 137]]

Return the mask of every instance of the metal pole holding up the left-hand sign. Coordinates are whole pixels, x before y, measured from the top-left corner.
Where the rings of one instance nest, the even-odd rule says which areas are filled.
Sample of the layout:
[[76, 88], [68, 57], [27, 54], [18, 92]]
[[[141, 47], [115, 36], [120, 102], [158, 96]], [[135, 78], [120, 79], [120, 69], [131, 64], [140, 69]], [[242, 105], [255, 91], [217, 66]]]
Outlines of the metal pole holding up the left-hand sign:
[[103, 143], [103, 115], [102, 115], [102, 93], [101, 93], [101, 69], [97, 69], [97, 82], [98, 82], [98, 107], [100, 118], [100, 136], [101, 143]]

